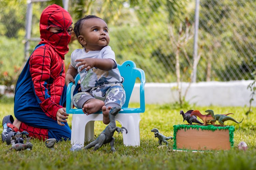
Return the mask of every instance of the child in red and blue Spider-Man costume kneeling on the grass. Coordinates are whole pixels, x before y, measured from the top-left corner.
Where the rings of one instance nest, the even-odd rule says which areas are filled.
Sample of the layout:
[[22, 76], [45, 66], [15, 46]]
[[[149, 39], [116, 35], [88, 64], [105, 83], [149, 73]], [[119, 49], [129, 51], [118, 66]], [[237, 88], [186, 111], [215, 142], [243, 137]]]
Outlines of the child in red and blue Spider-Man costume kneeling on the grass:
[[71, 130], [66, 101], [64, 55], [68, 53], [72, 18], [61, 6], [47, 6], [40, 18], [41, 42], [29, 57], [20, 74], [12, 115], [3, 118], [2, 141], [10, 144], [15, 132], [27, 131], [42, 140], [67, 140]]

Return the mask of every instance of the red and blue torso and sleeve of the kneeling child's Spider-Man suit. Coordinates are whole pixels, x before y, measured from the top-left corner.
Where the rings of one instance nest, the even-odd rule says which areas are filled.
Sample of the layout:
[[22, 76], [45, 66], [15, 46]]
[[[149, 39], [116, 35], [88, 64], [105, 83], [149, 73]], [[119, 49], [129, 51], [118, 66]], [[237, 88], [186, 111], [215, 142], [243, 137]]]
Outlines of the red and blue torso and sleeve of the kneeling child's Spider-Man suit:
[[65, 85], [65, 65], [49, 45], [39, 45], [19, 76], [15, 89], [15, 112], [42, 109], [52, 119]]

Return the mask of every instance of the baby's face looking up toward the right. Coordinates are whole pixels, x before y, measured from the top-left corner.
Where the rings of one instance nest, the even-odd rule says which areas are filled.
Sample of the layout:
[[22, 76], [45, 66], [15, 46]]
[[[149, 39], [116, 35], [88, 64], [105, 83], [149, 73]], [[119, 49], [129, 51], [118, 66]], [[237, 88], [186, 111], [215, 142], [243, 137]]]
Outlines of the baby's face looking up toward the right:
[[80, 43], [86, 51], [101, 50], [109, 45], [109, 31], [105, 21], [100, 18], [86, 19], [82, 23], [81, 34], [83, 41]]

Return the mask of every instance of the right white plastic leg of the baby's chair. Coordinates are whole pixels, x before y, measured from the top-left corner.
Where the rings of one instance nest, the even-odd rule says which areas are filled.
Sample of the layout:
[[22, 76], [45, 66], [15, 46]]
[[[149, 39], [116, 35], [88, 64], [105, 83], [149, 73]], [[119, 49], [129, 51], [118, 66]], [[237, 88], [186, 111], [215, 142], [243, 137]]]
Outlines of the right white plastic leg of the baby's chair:
[[116, 120], [124, 126], [128, 133], [123, 132], [125, 146], [140, 146], [140, 114], [117, 114]]

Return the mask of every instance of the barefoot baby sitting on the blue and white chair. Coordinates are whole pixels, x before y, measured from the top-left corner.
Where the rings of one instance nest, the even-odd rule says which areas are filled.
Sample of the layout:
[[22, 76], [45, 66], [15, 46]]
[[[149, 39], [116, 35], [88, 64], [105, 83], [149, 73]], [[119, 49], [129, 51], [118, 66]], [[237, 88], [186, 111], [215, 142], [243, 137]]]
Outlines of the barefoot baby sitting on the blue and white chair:
[[79, 73], [82, 92], [73, 97], [75, 107], [82, 108], [87, 115], [102, 109], [103, 123], [109, 124], [110, 109], [122, 108], [126, 96], [115, 53], [108, 46], [108, 26], [103, 19], [87, 15], [74, 24], [74, 32], [83, 49], [76, 49], [71, 54], [66, 85], [74, 83]]

